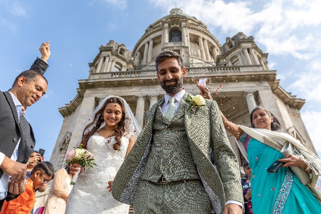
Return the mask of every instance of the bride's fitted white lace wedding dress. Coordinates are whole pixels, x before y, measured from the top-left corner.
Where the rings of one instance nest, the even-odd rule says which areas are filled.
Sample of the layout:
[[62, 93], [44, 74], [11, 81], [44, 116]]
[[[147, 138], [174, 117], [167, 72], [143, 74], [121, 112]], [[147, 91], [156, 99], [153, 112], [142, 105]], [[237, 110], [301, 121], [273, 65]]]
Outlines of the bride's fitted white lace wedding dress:
[[115, 137], [105, 139], [95, 132], [88, 140], [87, 149], [93, 153], [97, 167], [79, 175], [69, 195], [66, 214], [128, 213], [129, 205], [116, 201], [106, 187], [125, 159], [129, 138], [130, 135], [121, 138], [120, 151], [113, 149]]

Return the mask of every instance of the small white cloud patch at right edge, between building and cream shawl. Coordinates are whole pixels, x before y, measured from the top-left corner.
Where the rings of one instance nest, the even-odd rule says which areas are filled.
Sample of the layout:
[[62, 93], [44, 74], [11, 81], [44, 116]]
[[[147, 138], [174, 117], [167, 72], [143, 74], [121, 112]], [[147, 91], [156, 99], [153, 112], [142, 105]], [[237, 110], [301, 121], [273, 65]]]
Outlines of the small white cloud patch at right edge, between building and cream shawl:
[[317, 125], [320, 124], [321, 121], [321, 112], [306, 111], [301, 113], [301, 117], [306, 129], [308, 130], [313, 146], [319, 157], [321, 157], [321, 139], [319, 136], [320, 127]]

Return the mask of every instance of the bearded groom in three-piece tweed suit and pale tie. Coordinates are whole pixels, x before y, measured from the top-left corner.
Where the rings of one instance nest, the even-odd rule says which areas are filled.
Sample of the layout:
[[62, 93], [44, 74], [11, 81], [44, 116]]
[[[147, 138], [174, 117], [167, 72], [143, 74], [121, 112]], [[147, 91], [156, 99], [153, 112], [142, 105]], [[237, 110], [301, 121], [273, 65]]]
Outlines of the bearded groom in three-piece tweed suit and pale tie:
[[114, 179], [114, 198], [135, 213], [243, 213], [237, 158], [217, 103], [206, 100], [188, 111], [181, 56], [166, 50], [155, 64], [166, 94], [146, 112], [146, 125]]

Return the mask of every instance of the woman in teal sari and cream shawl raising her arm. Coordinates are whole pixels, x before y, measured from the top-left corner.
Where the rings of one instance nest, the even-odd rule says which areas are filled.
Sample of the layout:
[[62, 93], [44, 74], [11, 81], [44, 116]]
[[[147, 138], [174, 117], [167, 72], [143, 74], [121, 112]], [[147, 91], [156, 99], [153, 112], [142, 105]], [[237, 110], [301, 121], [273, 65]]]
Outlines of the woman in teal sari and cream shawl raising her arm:
[[[211, 99], [206, 87], [197, 86], [205, 99]], [[321, 173], [321, 160], [292, 136], [276, 132], [281, 128], [281, 124], [270, 110], [261, 106], [254, 108], [250, 114], [252, 128], [229, 122], [222, 112], [221, 116], [226, 130], [238, 140], [238, 147], [252, 169], [254, 214], [321, 213], [320, 193], [314, 189]], [[286, 143], [300, 151], [303, 159], [291, 154], [284, 157], [280, 150]], [[285, 164], [276, 173], [268, 173], [266, 169], [277, 160]], [[302, 184], [290, 167], [302, 168], [301, 173], [305, 175], [307, 174], [304, 171], [309, 173], [309, 176], [306, 176], [309, 181], [305, 182], [302, 178], [304, 176], [301, 176], [301, 181], [305, 182], [305, 185]]]

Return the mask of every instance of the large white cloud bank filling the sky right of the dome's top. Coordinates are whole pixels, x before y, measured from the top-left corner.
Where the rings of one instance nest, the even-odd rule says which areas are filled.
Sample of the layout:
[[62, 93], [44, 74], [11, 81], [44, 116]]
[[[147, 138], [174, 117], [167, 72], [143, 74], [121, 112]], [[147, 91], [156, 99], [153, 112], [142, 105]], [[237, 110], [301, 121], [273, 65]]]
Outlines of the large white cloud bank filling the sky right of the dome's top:
[[[150, 2], [167, 13], [173, 8], [170, 0]], [[240, 31], [253, 35], [272, 54], [290, 54], [298, 59], [311, 59], [316, 55], [318, 50], [310, 47], [315, 42], [321, 43], [320, 39], [312, 34], [302, 35], [300, 29], [321, 23], [321, 1], [272, 0], [254, 12], [256, 4], [258, 2], [184, 0], [178, 1], [177, 5], [181, 5], [184, 13], [208, 24], [209, 29], [221, 28], [222, 33], [230, 36]]]

